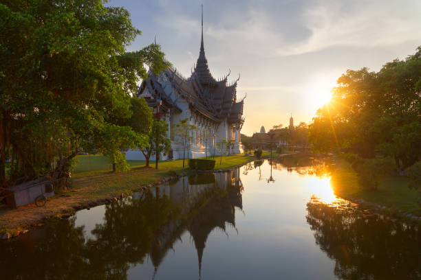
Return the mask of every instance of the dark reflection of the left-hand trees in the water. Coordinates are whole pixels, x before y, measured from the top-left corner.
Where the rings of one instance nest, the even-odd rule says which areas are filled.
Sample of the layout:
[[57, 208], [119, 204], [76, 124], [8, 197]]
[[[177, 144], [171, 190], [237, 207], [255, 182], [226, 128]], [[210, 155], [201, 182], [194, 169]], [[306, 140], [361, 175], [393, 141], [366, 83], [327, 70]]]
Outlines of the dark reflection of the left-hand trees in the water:
[[70, 218], [1, 242], [1, 254], [11, 256], [0, 260], [2, 279], [126, 279], [130, 264], [143, 263], [151, 250], [153, 233], [178, 213], [169, 198], [151, 192], [105, 209], [104, 223], [91, 232], [95, 238]]

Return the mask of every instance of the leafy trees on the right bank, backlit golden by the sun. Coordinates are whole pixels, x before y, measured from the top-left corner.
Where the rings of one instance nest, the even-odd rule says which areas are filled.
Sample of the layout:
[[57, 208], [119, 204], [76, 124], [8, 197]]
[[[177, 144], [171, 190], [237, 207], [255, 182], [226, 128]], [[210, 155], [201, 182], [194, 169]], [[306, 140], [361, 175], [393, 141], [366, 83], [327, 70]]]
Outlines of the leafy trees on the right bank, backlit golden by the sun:
[[315, 150], [351, 149], [360, 156], [392, 156], [405, 170], [421, 155], [421, 47], [379, 72], [348, 70], [330, 103], [310, 125]]

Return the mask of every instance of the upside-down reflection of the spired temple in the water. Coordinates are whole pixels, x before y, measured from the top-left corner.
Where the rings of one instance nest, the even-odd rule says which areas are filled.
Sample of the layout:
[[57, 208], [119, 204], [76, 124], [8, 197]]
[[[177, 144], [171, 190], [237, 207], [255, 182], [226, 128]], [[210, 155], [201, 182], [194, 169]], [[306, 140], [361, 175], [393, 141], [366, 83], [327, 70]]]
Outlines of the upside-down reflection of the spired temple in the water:
[[200, 273], [208, 235], [215, 229], [226, 231], [226, 226], [236, 229], [235, 210], [243, 209], [242, 190], [239, 170], [184, 177], [152, 189], [155, 197], [169, 197], [181, 209], [180, 215], [163, 224], [153, 237], [149, 256], [155, 272], [173, 244], [188, 231], [197, 250]]

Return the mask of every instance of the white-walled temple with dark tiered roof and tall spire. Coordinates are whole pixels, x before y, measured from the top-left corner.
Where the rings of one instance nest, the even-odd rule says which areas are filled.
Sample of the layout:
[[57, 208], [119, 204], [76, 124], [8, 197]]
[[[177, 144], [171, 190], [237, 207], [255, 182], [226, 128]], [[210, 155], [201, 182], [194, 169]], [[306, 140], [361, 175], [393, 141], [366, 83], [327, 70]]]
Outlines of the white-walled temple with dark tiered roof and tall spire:
[[[138, 97], [147, 100], [149, 107], [155, 112], [159, 110], [162, 119], [169, 124], [168, 136], [172, 149], [166, 156], [161, 155], [161, 160], [183, 158], [183, 148], [177, 145], [171, 128], [185, 118], [188, 118], [190, 124], [197, 126], [197, 130], [191, 132], [193, 141], [186, 151], [186, 159], [205, 156], [205, 149], [208, 156], [218, 155], [217, 143], [222, 139], [233, 144], [231, 154], [243, 152], [240, 131], [244, 124], [244, 98], [237, 101], [239, 79], [228, 84], [228, 75], [221, 80], [215, 80], [209, 71], [204, 52], [202, 13], [199, 58], [190, 78], [183, 78], [175, 69], [167, 69], [159, 75], [150, 71], [138, 90]], [[138, 150], [129, 150], [126, 158], [142, 160], [144, 156]]]

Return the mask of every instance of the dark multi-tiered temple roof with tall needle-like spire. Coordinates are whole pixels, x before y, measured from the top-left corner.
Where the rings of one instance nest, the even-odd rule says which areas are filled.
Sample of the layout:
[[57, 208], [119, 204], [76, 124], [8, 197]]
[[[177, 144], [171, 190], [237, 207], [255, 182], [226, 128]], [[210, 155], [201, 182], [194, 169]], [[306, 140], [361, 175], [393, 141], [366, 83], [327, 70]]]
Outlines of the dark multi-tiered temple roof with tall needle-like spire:
[[[221, 80], [213, 78], [209, 71], [208, 60], [205, 56], [203, 42], [203, 16], [202, 16], [202, 40], [200, 44], [199, 58], [192, 71], [190, 78], [183, 78], [175, 69], [167, 69], [166, 75], [175, 87], [177, 92], [188, 101], [190, 108], [196, 113], [200, 113], [208, 119], [220, 122], [227, 119], [230, 124], [242, 124], [244, 119], [243, 106], [244, 99], [237, 102], [237, 80], [228, 84], [227, 79], [230, 73]], [[149, 77], [142, 82], [138, 95], [148, 89], [155, 100], [162, 100], [162, 106], [169, 109], [180, 110], [175, 102], [166, 95], [162, 84], [158, 82], [158, 76], [149, 73]], [[155, 106], [154, 100], [148, 100], [150, 106]]]

